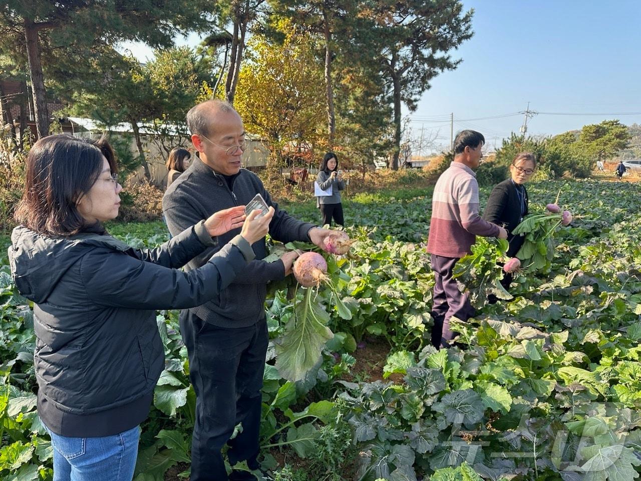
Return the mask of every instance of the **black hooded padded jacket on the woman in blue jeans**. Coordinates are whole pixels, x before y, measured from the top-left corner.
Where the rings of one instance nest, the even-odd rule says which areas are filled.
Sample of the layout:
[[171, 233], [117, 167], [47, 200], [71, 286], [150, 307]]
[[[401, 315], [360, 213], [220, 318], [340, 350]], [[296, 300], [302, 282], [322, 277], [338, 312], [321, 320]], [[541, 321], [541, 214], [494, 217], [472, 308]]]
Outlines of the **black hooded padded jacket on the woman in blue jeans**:
[[[204, 221], [156, 249], [110, 235], [12, 233], [9, 260], [34, 302], [38, 414], [56, 434], [99, 437], [128, 430], [149, 412], [164, 366], [156, 309], [194, 307], [218, 296], [253, 259], [247, 241], [219, 245]], [[179, 271], [208, 246], [217, 255]]]

